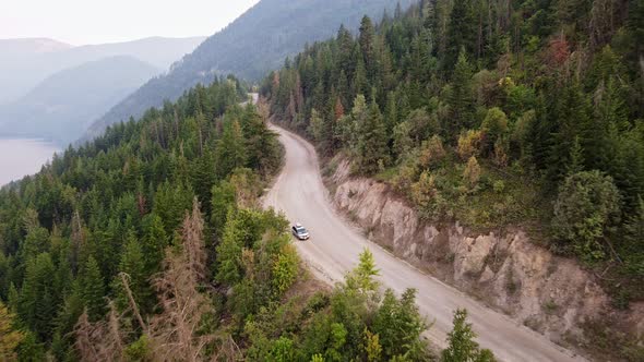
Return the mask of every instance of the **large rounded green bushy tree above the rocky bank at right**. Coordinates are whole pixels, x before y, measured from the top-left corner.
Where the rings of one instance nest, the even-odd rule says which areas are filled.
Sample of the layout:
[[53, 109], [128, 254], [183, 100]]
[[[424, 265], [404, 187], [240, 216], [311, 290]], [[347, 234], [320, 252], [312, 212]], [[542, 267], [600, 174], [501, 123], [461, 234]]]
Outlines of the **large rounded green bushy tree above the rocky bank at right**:
[[595, 262], [606, 257], [605, 238], [619, 217], [620, 195], [612, 178], [579, 172], [565, 179], [559, 192], [552, 228], [564, 251]]

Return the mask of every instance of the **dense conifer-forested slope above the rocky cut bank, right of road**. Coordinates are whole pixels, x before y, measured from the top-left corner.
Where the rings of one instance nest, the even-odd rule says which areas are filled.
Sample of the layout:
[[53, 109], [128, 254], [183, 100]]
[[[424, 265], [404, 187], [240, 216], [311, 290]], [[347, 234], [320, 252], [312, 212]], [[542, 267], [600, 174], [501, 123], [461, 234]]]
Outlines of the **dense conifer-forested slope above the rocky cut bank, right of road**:
[[[275, 119], [426, 219], [522, 226], [644, 298], [644, 2], [421, 1], [264, 81]], [[606, 275], [609, 275], [606, 277]], [[641, 354], [640, 354], [641, 355]]]

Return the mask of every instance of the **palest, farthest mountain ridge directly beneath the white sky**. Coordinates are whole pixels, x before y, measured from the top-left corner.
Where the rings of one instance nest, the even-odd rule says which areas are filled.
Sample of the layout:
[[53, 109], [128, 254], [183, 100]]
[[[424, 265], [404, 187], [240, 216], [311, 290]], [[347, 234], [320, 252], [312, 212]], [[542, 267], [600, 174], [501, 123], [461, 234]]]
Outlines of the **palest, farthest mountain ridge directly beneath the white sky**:
[[56, 72], [107, 57], [130, 56], [167, 70], [204, 39], [152, 37], [81, 47], [51, 39], [3, 39], [0, 40], [0, 105], [17, 99]]

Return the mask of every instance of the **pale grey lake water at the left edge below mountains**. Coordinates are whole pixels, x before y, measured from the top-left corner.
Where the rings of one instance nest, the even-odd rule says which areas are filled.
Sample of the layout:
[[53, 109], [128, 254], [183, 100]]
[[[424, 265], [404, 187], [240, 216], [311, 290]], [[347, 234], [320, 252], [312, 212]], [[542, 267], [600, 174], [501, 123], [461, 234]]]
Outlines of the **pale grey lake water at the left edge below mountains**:
[[40, 171], [59, 148], [39, 140], [0, 138], [0, 186]]

